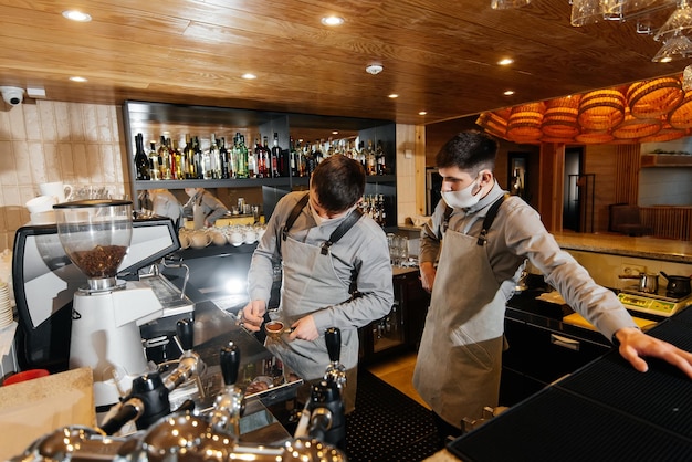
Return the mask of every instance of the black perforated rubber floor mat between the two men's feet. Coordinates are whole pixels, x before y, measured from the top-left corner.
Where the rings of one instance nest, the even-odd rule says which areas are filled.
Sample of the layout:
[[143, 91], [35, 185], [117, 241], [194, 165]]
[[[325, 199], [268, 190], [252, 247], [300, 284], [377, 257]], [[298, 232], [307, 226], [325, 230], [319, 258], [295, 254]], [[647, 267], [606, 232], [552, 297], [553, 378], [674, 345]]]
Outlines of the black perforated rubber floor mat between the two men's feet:
[[356, 410], [346, 416], [350, 462], [421, 461], [443, 447], [431, 411], [371, 372], [358, 370]]

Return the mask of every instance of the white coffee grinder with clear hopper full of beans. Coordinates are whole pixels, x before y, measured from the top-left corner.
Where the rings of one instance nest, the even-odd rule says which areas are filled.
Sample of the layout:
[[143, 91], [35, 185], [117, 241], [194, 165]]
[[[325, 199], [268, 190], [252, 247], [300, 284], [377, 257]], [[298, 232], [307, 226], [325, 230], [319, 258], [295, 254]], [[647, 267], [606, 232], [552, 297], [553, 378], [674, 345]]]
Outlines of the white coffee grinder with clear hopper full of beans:
[[162, 307], [149, 285], [116, 280], [132, 239], [130, 201], [90, 199], [54, 209], [60, 242], [87, 277], [73, 298], [70, 368], [92, 368], [96, 409], [105, 409], [148, 371], [138, 325], [160, 317]]

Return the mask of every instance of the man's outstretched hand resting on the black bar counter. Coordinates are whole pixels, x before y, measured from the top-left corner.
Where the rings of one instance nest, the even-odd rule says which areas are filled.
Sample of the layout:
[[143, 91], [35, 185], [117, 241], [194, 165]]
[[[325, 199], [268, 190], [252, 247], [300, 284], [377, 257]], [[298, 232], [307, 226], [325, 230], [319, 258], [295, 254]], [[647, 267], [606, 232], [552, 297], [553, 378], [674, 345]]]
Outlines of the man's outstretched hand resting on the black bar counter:
[[692, 379], [692, 353], [651, 337], [633, 327], [619, 329], [616, 337], [620, 343], [620, 355], [640, 372], [649, 370], [649, 365], [642, 359], [648, 356], [670, 363]]

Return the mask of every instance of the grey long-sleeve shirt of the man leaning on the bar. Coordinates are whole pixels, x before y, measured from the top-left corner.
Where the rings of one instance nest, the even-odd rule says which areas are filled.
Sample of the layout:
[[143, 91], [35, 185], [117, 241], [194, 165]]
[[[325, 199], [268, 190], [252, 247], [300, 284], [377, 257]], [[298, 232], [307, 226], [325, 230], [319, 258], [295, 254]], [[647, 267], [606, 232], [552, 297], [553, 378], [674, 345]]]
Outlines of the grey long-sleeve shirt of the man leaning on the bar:
[[[505, 191], [495, 182], [491, 192], [470, 209], [454, 209], [449, 229], [478, 237], [490, 206]], [[421, 230], [420, 261], [436, 262], [440, 250], [441, 224], [447, 204], [441, 200]], [[487, 235], [487, 255], [497, 283], [508, 298], [524, 259], [545, 276], [565, 302], [588, 319], [608, 339], [622, 327], [637, 327], [618, 297], [596, 284], [569, 253], [562, 250], [548, 233], [541, 216], [517, 197], [510, 197], [500, 208]], [[463, 272], [473, 271], [459, 262], [459, 296], [473, 287], [463, 285]]]

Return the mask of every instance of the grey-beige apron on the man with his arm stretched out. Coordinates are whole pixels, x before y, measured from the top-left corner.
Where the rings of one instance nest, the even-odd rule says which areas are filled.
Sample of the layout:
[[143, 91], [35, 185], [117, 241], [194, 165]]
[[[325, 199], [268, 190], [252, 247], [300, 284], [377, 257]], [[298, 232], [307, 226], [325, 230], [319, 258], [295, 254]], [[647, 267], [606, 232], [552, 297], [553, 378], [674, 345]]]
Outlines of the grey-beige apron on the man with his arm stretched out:
[[485, 406], [497, 406], [504, 312], [486, 248], [478, 238], [448, 230], [413, 386], [454, 427], [462, 428], [464, 417], [480, 419]]

